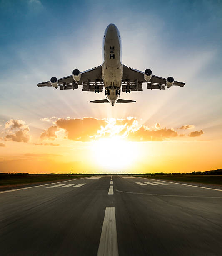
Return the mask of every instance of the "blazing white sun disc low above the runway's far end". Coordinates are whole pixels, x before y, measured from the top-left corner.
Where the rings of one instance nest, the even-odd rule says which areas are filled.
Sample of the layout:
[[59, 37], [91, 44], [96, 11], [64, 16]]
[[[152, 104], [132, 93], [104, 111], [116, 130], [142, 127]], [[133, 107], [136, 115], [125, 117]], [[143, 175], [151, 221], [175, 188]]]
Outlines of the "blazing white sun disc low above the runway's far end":
[[116, 172], [126, 169], [134, 164], [138, 156], [136, 143], [120, 136], [99, 139], [93, 143], [95, 164], [107, 171]]

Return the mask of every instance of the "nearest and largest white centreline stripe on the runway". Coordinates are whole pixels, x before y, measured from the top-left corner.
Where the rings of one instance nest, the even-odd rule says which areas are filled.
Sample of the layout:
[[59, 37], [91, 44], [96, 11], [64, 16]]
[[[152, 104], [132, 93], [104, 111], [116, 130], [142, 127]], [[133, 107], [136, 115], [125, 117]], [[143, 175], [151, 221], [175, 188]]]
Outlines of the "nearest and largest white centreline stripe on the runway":
[[97, 256], [118, 256], [115, 207], [106, 207]]

